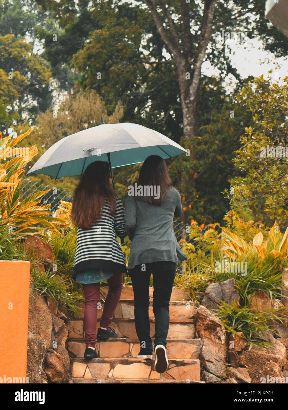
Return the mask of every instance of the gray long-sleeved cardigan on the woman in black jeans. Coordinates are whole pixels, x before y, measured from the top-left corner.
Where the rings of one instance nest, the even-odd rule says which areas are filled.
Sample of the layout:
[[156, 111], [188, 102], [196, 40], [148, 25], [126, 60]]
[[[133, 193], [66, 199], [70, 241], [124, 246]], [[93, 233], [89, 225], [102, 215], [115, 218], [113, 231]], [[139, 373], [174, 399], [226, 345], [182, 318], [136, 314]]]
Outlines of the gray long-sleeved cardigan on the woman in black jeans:
[[172, 187], [161, 206], [134, 196], [125, 198], [125, 229], [132, 240], [128, 269], [150, 262], [177, 263], [187, 259], [173, 230], [173, 217], [182, 212], [180, 194]]

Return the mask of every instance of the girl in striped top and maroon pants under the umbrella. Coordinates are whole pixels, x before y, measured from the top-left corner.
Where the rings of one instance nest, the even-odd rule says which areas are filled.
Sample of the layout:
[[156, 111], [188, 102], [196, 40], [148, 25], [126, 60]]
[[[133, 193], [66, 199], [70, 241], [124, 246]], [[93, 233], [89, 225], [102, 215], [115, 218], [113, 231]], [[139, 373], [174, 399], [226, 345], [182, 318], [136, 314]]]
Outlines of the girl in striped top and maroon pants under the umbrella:
[[[125, 237], [124, 208], [115, 195], [107, 162], [90, 164], [75, 189], [71, 220], [77, 226], [73, 277], [83, 284], [86, 360], [97, 358], [95, 342], [118, 337], [109, 325], [120, 300], [123, 273], [127, 273], [117, 236]], [[96, 333], [100, 282], [107, 280], [108, 294]]]

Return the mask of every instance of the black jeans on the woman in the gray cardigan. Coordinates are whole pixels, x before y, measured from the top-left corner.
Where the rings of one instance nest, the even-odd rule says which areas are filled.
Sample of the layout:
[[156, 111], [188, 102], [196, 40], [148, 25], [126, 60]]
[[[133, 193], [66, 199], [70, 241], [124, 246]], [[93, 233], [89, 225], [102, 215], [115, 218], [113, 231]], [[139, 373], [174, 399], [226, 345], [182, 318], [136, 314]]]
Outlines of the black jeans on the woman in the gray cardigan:
[[[145, 271], [143, 271], [145, 266]], [[149, 321], [149, 282], [153, 275], [153, 312], [157, 344], [167, 344], [169, 329], [169, 302], [176, 273], [175, 262], [152, 262], [129, 270], [134, 291], [135, 326], [141, 347], [152, 347]]]

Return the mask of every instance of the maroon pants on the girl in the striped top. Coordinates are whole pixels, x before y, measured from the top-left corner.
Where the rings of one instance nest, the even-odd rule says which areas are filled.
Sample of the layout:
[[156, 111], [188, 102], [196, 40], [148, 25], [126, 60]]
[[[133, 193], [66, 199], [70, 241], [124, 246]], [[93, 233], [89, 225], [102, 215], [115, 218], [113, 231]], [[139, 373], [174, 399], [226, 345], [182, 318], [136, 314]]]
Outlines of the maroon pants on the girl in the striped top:
[[[107, 279], [109, 290], [103, 307], [103, 314], [100, 320], [101, 328], [108, 328], [110, 325], [115, 309], [120, 300], [123, 287], [123, 273], [114, 273]], [[100, 304], [100, 283], [83, 283], [85, 296], [84, 311], [84, 332], [86, 347], [95, 347], [97, 311], [101, 309]]]

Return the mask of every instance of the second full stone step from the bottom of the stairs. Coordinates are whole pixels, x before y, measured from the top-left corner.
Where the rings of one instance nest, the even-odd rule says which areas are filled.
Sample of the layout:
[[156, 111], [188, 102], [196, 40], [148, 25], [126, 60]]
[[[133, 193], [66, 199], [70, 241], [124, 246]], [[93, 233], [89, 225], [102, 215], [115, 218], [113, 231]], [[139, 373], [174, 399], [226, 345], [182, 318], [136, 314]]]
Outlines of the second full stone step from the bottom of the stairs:
[[[168, 339], [168, 358], [198, 359], [202, 344], [201, 339]], [[85, 348], [84, 339], [67, 339], [67, 350], [72, 357], [83, 358]], [[96, 343], [100, 358], [137, 358], [139, 348], [138, 339], [118, 338]]]

